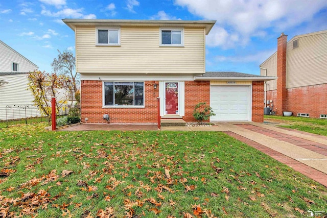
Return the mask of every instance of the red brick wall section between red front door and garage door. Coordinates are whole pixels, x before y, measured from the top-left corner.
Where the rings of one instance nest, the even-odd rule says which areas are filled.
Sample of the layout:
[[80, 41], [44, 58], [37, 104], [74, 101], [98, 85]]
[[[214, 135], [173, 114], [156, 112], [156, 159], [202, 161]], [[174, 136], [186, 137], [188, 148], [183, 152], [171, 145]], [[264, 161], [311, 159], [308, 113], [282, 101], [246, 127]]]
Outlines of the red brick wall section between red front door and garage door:
[[183, 119], [186, 122], [197, 121], [193, 117], [193, 110], [200, 102], [210, 105], [210, 81], [185, 81], [185, 116]]

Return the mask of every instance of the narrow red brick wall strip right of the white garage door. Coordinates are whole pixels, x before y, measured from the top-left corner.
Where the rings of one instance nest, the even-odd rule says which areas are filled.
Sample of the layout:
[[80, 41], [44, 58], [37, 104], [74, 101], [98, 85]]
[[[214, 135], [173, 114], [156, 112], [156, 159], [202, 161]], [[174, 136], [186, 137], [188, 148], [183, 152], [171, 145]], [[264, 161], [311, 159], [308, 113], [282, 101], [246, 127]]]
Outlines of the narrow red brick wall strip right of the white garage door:
[[252, 82], [252, 121], [264, 122], [264, 81]]

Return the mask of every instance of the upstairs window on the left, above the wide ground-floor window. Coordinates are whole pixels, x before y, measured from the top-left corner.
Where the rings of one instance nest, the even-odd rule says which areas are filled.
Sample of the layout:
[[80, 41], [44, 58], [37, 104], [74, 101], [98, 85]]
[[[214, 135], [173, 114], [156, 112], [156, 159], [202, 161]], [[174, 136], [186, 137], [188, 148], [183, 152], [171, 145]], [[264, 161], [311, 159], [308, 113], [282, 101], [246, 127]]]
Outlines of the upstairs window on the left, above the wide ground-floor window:
[[98, 28], [97, 45], [120, 45], [120, 28]]

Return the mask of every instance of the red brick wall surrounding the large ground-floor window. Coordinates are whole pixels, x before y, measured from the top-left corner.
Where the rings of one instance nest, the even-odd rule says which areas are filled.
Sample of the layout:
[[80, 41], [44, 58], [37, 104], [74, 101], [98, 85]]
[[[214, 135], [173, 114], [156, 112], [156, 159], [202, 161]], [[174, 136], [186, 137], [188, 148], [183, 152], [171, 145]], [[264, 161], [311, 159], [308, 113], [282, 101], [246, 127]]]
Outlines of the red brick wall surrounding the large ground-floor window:
[[81, 120], [88, 123], [107, 123], [103, 114], [109, 114], [111, 123], [157, 123], [157, 81], [145, 81], [145, 108], [102, 108], [102, 81], [81, 81]]

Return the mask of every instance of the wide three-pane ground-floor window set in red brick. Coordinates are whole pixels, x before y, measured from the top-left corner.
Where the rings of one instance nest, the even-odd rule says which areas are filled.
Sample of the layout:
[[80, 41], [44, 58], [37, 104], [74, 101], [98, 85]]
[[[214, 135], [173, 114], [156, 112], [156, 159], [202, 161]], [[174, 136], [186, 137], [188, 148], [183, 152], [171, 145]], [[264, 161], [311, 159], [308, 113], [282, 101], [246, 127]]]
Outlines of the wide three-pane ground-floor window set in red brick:
[[104, 106], [144, 106], [144, 82], [104, 82]]

